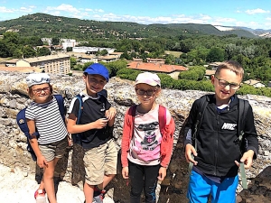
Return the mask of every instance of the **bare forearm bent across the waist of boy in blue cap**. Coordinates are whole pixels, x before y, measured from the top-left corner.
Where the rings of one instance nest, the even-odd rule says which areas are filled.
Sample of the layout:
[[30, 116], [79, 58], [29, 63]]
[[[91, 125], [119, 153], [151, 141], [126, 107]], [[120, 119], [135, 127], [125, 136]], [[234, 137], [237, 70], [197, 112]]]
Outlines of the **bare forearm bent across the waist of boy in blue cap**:
[[70, 134], [78, 134], [85, 131], [89, 131], [91, 129], [102, 129], [107, 126], [107, 119], [100, 118], [95, 122], [91, 122], [85, 125], [77, 125], [76, 124], [77, 117], [74, 114], [70, 114], [68, 116], [68, 124], [67, 130]]

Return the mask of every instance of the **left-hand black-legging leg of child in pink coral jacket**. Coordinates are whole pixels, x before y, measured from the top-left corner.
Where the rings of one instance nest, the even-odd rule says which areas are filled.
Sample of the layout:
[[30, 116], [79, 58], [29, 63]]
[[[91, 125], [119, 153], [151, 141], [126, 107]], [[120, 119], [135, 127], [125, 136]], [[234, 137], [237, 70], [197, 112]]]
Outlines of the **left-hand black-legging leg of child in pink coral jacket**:
[[144, 186], [143, 168], [144, 166], [129, 161], [129, 180], [131, 183], [130, 203], [140, 203], [140, 196]]

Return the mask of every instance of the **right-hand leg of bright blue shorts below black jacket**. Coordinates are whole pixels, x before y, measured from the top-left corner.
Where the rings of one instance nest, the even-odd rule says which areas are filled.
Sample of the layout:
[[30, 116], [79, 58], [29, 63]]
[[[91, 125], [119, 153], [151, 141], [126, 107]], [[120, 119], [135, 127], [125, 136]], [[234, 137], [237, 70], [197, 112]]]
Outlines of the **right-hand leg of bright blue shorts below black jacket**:
[[227, 178], [220, 184], [215, 183], [211, 188], [212, 203], [235, 203], [236, 189], [238, 187], [238, 175]]

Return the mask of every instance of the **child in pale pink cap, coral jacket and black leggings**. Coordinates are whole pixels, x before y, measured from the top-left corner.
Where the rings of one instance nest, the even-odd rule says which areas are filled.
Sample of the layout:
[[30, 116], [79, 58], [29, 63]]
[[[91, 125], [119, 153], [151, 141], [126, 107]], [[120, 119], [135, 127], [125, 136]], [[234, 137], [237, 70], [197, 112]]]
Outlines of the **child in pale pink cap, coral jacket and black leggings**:
[[175, 125], [166, 109], [165, 127], [163, 132], [160, 131], [160, 107], [155, 98], [161, 93], [161, 82], [156, 74], [140, 73], [135, 80], [135, 93], [140, 104], [130, 107], [125, 115], [121, 143], [122, 176], [131, 180], [131, 203], [140, 202], [143, 188], [145, 202], [154, 203], [157, 180], [164, 180], [172, 156]]

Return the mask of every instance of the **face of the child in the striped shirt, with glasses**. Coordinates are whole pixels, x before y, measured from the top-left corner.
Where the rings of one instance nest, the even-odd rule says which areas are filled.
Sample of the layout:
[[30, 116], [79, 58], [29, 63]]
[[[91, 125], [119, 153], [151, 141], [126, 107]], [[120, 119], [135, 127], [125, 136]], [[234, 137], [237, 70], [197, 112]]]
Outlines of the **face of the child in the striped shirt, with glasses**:
[[51, 88], [48, 83], [33, 85], [31, 87], [31, 97], [36, 103], [48, 102], [51, 96]]

